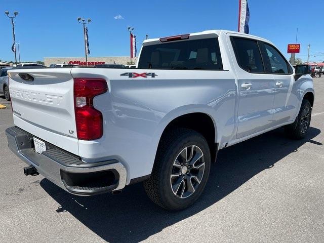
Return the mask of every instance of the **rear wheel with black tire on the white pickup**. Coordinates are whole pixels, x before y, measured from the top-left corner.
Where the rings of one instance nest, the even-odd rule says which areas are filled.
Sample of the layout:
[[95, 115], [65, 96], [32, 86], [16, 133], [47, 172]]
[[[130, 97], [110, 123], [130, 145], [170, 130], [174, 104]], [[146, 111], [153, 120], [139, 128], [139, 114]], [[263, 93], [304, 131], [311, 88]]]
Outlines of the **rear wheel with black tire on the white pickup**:
[[[182, 160], [184, 154], [186, 158]], [[196, 162], [192, 162], [199, 156]], [[204, 136], [193, 130], [174, 128], [161, 138], [151, 176], [144, 182], [146, 194], [161, 208], [170, 211], [185, 209], [203, 193], [210, 167], [211, 154]]]

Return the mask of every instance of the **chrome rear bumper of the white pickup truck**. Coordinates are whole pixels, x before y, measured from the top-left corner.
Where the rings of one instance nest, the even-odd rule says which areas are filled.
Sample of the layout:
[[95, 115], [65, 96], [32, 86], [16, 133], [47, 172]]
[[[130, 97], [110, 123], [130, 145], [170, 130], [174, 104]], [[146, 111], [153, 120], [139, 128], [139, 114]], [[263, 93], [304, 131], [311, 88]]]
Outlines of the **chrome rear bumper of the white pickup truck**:
[[[33, 135], [18, 127], [6, 130], [8, 146], [27, 165], [64, 190], [76, 195], [94, 195], [123, 189], [126, 168], [117, 160], [86, 163], [77, 156], [46, 143], [47, 150], [34, 150]], [[45, 141], [46, 142], [46, 141]]]

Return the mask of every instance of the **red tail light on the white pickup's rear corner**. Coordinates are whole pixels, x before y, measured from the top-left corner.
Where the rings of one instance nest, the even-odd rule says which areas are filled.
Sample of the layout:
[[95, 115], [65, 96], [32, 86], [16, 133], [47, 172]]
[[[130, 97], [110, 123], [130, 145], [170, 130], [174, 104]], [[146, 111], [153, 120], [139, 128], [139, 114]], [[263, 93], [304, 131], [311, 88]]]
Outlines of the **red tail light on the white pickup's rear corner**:
[[102, 137], [102, 113], [93, 106], [95, 96], [106, 93], [103, 78], [74, 78], [74, 111], [78, 139], [94, 140]]

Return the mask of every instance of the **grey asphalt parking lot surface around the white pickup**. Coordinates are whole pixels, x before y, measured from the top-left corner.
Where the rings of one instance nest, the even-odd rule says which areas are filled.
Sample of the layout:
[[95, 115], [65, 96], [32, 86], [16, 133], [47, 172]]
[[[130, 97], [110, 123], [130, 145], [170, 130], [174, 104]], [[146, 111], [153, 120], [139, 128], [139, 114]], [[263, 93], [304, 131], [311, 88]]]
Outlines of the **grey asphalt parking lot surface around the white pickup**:
[[25, 176], [8, 148], [10, 102], [0, 96], [1, 242], [323, 242], [324, 77], [314, 78], [307, 138], [282, 129], [223, 149], [203, 196], [170, 213], [141, 184], [118, 195], [79, 197]]

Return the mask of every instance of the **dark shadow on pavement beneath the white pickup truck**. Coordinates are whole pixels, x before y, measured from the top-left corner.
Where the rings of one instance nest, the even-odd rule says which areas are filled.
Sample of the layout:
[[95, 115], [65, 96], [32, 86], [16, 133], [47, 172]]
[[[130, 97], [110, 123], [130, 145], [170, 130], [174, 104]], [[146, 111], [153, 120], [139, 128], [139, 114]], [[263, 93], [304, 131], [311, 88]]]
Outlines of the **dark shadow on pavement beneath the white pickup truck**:
[[310, 128], [305, 139], [291, 140], [284, 136], [283, 129], [277, 129], [221, 150], [217, 163], [212, 165], [205, 192], [193, 206], [181, 212], [167, 212], [155, 206], [142, 183], [127, 186], [118, 195], [91, 197], [71, 195], [47, 179], [41, 181], [41, 186], [61, 205], [53, 210], [69, 212], [104, 240], [138, 242], [217, 204], [258, 173], [271, 170], [277, 161], [303, 144], [321, 146], [312, 140], [319, 133], [319, 129]]

